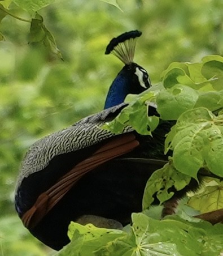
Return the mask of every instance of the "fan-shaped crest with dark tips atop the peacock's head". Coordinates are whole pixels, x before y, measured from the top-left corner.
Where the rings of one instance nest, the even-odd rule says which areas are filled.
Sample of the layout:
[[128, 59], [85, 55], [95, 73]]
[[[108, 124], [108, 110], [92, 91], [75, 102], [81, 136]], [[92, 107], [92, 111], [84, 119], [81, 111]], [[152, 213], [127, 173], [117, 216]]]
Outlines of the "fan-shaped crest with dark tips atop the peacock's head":
[[113, 38], [108, 44], [105, 54], [112, 53], [125, 64], [132, 63], [135, 53], [136, 38], [141, 35], [142, 32], [134, 30]]

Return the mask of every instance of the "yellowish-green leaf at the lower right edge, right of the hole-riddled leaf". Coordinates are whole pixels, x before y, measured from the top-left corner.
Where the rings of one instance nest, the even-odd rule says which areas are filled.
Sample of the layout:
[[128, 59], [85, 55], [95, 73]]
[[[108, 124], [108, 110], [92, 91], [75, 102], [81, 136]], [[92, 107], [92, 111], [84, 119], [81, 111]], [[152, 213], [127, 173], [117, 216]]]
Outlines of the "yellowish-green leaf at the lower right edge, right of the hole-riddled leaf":
[[202, 214], [223, 208], [223, 181], [205, 178], [201, 189], [190, 198], [188, 205]]

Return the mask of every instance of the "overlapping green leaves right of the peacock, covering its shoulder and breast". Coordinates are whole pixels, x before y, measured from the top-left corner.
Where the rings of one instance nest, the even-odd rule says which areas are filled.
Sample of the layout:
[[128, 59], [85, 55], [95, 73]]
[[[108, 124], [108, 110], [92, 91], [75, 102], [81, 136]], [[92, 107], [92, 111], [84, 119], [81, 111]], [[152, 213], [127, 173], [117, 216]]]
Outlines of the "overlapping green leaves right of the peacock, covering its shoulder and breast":
[[159, 119], [149, 116], [151, 105], [157, 105], [161, 120], [176, 120], [176, 125], [165, 140], [165, 153], [173, 151], [173, 165], [151, 176], [144, 208], [155, 193], [160, 202], [171, 198], [168, 189], [181, 190], [190, 177], [196, 179], [200, 168], [223, 177], [223, 58], [207, 56], [200, 63], [172, 63], [163, 72], [163, 83], [142, 93], [104, 128], [120, 133], [129, 125], [138, 133], [152, 134]]

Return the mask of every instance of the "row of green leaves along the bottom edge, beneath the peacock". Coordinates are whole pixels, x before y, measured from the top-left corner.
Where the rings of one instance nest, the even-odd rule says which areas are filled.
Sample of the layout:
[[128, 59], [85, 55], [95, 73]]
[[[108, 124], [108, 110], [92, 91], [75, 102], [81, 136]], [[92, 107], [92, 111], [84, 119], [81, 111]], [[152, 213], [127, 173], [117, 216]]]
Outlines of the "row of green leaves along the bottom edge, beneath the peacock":
[[213, 227], [205, 221], [191, 218], [189, 222], [178, 216], [160, 221], [144, 214], [133, 214], [132, 223], [129, 232], [71, 223], [71, 244], [59, 255], [180, 256], [219, 255], [223, 251], [222, 224]]

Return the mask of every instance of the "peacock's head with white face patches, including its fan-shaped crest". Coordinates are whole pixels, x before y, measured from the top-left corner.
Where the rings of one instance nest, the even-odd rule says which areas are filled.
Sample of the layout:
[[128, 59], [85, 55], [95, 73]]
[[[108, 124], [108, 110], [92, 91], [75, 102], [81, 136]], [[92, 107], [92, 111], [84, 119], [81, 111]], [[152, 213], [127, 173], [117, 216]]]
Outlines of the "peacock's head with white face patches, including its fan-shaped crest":
[[133, 62], [135, 42], [141, 35], [138, 30], [125, 32], [110, 41], [105, 53], [112, 53], [125, 64], [119, 75], [128, 78], [129, 93], [132, 94], [141, 93], [151, 86], [147, 71]]

